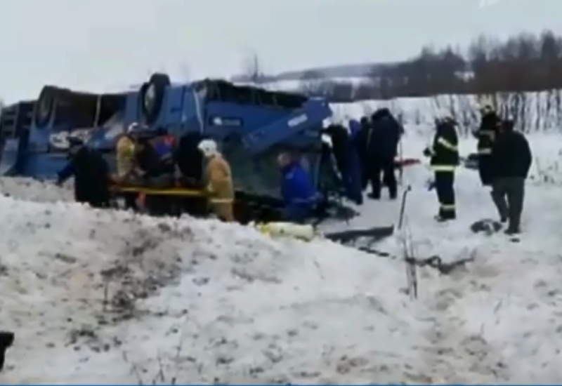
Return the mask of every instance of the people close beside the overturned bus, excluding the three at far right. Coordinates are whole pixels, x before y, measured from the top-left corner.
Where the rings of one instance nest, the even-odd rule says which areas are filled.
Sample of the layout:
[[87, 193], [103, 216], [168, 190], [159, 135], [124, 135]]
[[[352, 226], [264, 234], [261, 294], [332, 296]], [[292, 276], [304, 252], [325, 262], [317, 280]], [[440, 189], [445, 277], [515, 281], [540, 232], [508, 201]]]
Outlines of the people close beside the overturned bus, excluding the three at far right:
[[[326, 152], [334, 160], [347, 196], [362, 204], [363, 191], [370, 182], [372, 199], [381, 198], [381, 188], [388, 187], [391, 199], [396, 199], [397, 182], [395, 157], [403, 128], [388, 109], [379, 109], [372, 117], [351, 120], [349, 127], [330, 125], [324, 134], [332, 147]], [[79, 202], [93, 207], [110, 206], [110, 186], [141, 185], [171, 187], [178, 178], [181, 186], [206, 189], [205, 209], [233, 221], [233, 177], [228, 161], [222, 157], [214, 140], [202, 138], [199, 133], [187, 133], [178, 143], [164, 129], [148, 130], [131, 124], [119, 136], [116, 148], [117, 171], [110, 168], [102, 154], [87, 147], [79, 139], [70, 139], [69, 162], [58, 173], [57, 183], [74, 176], [74, 195]], [[282, 218], [303, 222], [311, 216], [322, 201], [312, 175], [306, 171], [299, 157], [282, 152], [277, 158], [280, 168], [280, 193], [283, 200]], [[382, 176], [382, 180], [381, 180]], [[201, 184], [207, 184], [202, 187]], [[143, 204], [151, 208], [169, 204], [169, 197], [146, 196], [136, 192], [124, 194], [126, 208], [137, 209]], [[150, 203], [148, 202], [150, 201]], [[191, 203], [197, 200], [190, 199]], [[193, 209], [193, 208], [191, 208]], [[192, 212], [192, 211], [190, 211]]]

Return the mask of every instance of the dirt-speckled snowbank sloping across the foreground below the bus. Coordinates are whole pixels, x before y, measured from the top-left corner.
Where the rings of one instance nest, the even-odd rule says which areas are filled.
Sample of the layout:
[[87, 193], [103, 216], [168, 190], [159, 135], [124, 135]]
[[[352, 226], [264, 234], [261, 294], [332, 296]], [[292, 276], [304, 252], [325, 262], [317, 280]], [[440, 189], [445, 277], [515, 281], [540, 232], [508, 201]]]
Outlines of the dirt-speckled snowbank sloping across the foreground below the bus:
[[426, 376], [430, 325], [398, 291], [398, 262], [214, 221], [0, 208], [1, 328], [17, 337], [0, 382]]

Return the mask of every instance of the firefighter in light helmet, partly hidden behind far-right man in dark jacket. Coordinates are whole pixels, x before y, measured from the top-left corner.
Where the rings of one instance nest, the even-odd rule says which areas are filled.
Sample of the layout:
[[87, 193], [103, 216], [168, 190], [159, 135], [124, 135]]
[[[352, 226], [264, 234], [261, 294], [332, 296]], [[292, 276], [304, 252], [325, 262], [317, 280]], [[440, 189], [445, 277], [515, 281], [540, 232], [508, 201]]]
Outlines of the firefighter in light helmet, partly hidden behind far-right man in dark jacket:
[[474, 135], [478, 139], [478, 144], [476, 145], [478, 152], [478, 174], [480, 175], [482, 185], [488, 186], [492, 184], [494, 178], [490, 155], [492, 154], [495, 136], [502, 120], [499, 119], [492, 106], [488, 104], [483, 105], [481, 114], [481, 124]]

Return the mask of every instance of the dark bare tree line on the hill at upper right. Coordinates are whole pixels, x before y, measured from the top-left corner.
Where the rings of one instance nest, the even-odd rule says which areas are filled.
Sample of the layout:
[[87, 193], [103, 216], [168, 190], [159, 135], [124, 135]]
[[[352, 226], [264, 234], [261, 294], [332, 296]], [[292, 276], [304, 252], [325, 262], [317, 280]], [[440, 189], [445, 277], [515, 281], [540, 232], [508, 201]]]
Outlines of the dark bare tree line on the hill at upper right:
[[[256, 58], [250, 71], [259, 76]], [[558, 90], [562, 89], [562, 36], [550, 30], [507, 39], [482, 35], [464, 49], [425, 46], [396, 65], [374, 66], [362, 81], [325, 79], [310, 71], [298, 83], [297, 91], [331, 102]]]

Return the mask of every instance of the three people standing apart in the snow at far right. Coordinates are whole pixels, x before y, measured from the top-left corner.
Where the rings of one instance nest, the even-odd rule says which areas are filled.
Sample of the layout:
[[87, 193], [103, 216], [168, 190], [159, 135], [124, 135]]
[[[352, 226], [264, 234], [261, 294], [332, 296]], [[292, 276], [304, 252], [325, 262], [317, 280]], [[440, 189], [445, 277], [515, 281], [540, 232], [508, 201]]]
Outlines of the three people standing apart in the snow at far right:
[[[424, 151], [431, 157], [438, 201], [436, 219], [454, 220], [455, 168], [459, 164], [457, 122], [447, 114], [436, 118], [436, 133], [431, 147]], [[501, 119], [491, 105], [481, 107], [481, 124], [473, 132], [478, 139], [478, 173], [484, 186], [492, 187], [491, 197], [499, 220], [507, 222], [507, 234], [521, 232], [521, 213], [525, 198], [525, 179], [532, 163], [531, 149], [523, 133], [514, 130], [514, 121]]]

